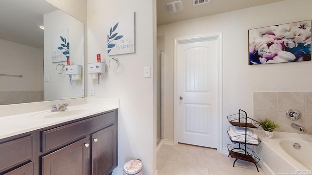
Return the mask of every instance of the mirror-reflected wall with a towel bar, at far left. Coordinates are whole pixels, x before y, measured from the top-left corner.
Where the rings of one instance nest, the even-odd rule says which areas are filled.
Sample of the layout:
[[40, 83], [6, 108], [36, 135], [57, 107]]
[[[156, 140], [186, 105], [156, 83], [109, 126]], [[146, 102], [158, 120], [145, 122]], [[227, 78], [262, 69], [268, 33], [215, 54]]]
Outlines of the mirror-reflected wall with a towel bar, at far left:
[[0, 91], [43, 90], [43, 49], [0, 39]]

